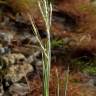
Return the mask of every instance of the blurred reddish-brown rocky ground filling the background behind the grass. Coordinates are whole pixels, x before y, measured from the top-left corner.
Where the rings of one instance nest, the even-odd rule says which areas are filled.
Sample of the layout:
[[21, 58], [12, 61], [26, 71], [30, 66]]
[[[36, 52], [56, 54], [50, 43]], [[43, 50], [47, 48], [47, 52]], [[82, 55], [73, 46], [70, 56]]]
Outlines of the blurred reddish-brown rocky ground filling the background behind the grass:
[[[5, 1], [0, 0], [0, 96], [42, 96], [41, 49], [25, 15], [28, 9], [18, 0]], [[92, 69], [96, 68], [95, 1], [76, 2], [56, 0], [53, 6], [50, 96], [57, 96], [57, 74], [60, 96], [64, 96], [68, 66], [67, 96], [96, 94], [96, 69]], [[40, 13], [33, 10], [38, 13], [34, 20], [45, 41]]]

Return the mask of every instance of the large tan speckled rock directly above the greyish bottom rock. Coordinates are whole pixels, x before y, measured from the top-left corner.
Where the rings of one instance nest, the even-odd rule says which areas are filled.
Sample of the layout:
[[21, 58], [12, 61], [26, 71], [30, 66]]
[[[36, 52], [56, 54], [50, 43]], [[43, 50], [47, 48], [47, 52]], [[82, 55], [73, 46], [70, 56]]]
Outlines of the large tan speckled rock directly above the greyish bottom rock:
[[30, 64], [12, 65], [6, 74], [6, 78], [11, 78], [12, 82], [17, 82], [25, 77], [29, 72], [34, 69]]

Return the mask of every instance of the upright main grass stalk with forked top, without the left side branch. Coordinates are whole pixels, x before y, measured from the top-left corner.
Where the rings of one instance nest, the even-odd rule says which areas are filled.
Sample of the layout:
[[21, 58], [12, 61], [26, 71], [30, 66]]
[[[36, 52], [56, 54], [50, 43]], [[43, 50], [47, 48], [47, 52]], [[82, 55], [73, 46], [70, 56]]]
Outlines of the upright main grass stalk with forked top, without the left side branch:
[[[51, 5], [51, 4], [50, 4]], [[45, 58], [43, 54], [43, 95], [49, 96], [49, 79], [50, 79], [50, 65], [51, 65], [51, 39], [50, 39], [50, 14], [52, 14], [51, 7], [47, 0], [42, 0], [41, 3], [39, 2], [39, 8], [42, 13], [43, 19], [45, 21], [45, 27], [47, 32], [47, 44], [45, 45], [46, 53], [48, 55], [48, 59]]]

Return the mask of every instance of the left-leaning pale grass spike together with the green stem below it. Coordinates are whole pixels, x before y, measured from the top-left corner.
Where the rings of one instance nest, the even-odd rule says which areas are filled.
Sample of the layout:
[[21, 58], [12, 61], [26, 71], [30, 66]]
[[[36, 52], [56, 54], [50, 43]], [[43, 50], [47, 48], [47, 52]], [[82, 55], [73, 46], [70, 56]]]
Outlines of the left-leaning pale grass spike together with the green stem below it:
[[[30, 15], [29, 15], [30, 16]], [[38, 31], [36, 30], [36, 27], [32, 21], [32, 18], [30, 18], [36, 39], [38, 40], [38, 43], [42, 49], [42, 53], [43, 53], [43, 95], [44, 96], [49, 96], [49, 62], [50, 62], [50, 57], [49, 57], [49, 48], [45, 48], [44, 45], [42, 44], [39, 36], [37, 35]], [[49, 46], [49, 45], [48, 45]]]

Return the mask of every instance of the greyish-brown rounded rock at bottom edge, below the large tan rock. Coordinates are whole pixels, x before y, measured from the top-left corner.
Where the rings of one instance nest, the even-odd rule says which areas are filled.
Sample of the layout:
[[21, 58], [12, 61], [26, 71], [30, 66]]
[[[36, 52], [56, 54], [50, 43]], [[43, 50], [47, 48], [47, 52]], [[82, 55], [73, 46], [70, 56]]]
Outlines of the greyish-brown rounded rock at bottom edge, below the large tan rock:
[[28, 88], [27, 84], [14, 83], [10, 87], [9, 92], [12, 94], [12, 96], [18, 96], [18, 95], [26, 96], [26, 94], [29, 93], [29, 88]]

